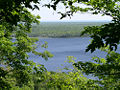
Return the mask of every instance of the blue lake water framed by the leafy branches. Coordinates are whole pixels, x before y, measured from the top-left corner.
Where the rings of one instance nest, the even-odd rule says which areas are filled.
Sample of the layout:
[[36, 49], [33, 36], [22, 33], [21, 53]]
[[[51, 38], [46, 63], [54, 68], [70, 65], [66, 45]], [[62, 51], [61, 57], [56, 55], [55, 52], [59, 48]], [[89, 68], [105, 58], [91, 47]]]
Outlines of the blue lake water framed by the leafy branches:
[[[93, 56], [105, 57], [106, 53], [96, 50], [94, 53], [85, 52], [87, 45], [90, 43], [89, 37], [80, 38], [40, 38], [37, 42], [38, 45], [48, 42], [48, 48], [37, 48], [37, 51], [42, 52], [44, 50], [50, 51], [54, 57], [45, 61], [43, 58], [35, 55], [30, 55], [30, 60], [43, 64], [48, 71], [57, 71], [58, 67], [63, 68], [67, 66], [71, 68], [71, 64], [65, 63], [67, 56], [76, 57], [76, 61], [91, 61]], [[63, 66], [61, 66], [63, 64]]]

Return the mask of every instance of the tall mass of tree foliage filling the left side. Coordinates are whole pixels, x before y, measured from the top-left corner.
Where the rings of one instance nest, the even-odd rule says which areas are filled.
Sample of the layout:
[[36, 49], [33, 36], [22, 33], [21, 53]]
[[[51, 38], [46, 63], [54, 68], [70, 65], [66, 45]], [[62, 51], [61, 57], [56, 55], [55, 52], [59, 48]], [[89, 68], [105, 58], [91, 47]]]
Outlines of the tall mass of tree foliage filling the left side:
[[[34, 3], [34, 5], [31, 5]], [[39, 16], [32, 15], [26, 8], [39, 9], [38, 0], [0, 0], [0, 89], [11, 86], [29, 85], [31, 73], [44, 71], [42, 65], [28, 60], [28, 53], [52, 57], [48, 51], [36, 52], [35, 39], [28, 37], [33, 23]], [[12, 80], [10, 80], [12, 78]]]

